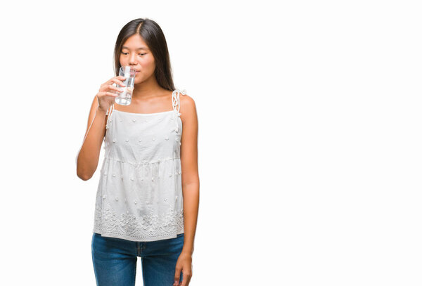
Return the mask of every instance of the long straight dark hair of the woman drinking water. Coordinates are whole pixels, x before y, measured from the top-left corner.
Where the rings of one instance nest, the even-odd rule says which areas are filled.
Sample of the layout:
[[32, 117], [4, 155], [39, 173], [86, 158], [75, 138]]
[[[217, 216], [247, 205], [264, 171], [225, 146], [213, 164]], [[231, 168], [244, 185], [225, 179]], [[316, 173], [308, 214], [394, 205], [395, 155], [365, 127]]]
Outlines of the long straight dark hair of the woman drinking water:
[[172, 67], [170, 65], [170, 55], [165, 41], [164, 33], [160, 26], [148, 18], [139, 18], [128, 22], [117, 36], [114, 50], [115, 75], [119, 75], [120, 52], [124, 42], [134, 34], [139, 34], [146, 42], [155, 59], [155, 79], [158, 85], [168, 91], [174, 91], [172, 77]]

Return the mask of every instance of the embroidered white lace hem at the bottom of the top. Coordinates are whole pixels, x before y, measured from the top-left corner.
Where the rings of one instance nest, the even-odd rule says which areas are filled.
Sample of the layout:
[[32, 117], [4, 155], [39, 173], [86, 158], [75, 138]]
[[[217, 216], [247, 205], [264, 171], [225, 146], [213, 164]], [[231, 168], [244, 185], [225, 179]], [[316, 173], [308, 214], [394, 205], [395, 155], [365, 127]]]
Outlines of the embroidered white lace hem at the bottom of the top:
[[108, 205], [105, 209], [96, 206], [94, 232], [104, 236], [132, 241], [154, 241], [175, 238], [184, 233], [183, 209], [170, 210], [165, 214], [134, 216], [126, 212], [120, 214]]

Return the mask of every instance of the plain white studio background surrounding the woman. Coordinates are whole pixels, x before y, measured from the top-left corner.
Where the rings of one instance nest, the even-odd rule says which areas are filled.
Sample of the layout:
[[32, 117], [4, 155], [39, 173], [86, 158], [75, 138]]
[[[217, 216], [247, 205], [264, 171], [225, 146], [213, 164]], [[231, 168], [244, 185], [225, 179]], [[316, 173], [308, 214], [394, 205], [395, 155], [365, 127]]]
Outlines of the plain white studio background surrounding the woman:
[[198, 111], [191, 285], [421, 285], [418, 1], [275, 3], [0, 9], [1, 285], [95, 285], [99, 168], [82, 181], [75, 156], [135, 18]]

